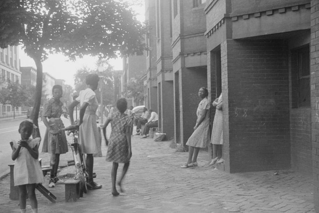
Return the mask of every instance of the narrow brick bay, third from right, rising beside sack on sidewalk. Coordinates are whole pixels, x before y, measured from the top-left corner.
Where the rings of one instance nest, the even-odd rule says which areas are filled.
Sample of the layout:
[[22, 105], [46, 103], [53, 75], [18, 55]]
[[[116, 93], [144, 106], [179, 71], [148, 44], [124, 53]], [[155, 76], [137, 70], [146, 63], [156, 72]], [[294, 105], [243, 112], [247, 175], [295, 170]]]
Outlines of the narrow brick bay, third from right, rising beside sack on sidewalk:
[[159, 128], [174, 137], [174, 79], [170, 1], [156, 1], [156, 67]]

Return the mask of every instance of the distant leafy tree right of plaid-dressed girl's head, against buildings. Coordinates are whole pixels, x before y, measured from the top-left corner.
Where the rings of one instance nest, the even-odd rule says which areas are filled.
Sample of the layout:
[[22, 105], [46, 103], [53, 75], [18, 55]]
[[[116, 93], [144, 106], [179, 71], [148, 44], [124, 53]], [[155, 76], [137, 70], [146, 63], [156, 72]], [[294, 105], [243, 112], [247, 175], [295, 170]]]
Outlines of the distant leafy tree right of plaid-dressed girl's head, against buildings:
[[140, 104], [144, 100], [143, 81], [140, 78], [132, 79], [126, 85], [127, 97], [134, 98], [136, 104]]

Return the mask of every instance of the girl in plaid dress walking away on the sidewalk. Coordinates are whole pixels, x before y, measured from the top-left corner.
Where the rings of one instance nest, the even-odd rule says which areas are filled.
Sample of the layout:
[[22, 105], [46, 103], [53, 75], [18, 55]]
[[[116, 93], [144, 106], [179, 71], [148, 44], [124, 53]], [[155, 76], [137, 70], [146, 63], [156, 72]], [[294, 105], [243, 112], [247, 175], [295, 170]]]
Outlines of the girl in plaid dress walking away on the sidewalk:
[[118, 99], [116, 102], [117, 112], [110, 113], [108, 119], [103, 125], [103, 135], [106, 138], [106, 127], [111, 122], [112, 132], [110, 136], [110, 142], [108, 143], [108, 152], [106, 154], [106, 160], [113, 162], [112, 166], [112, 195], [117, 196], [120, 193], [116, 190], [116, 174], [119, 163], [124, 163], [122, 176], [117, 185], [120, 187], [120, 191], [123, 192], [122, 180], [129, 169], [130, 158], [132, 157], [131, 149], [131, 128], [133, 128], [132, 119], [128, 114], [125, 114], [127, 109], [127, 101], [125, 98]]

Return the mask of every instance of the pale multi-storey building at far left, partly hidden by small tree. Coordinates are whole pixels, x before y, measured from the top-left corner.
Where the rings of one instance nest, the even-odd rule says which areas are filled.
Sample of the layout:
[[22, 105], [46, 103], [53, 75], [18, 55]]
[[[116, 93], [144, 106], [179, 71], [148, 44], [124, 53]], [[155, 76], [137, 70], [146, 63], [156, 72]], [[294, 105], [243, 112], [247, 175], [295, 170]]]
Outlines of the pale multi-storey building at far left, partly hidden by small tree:
[[[17, 46], [8, 46], [0, 48], [0, 70], [1, 82], [11, 81], [21, 84], [21, 72], [19, 70], [19, 49]], [[21, 113], [21, 107], [15, 109], [16, 115]], [[9, 104], [0, 104], [0, 117], [9, 117], [13, 115], [13, 107]]]

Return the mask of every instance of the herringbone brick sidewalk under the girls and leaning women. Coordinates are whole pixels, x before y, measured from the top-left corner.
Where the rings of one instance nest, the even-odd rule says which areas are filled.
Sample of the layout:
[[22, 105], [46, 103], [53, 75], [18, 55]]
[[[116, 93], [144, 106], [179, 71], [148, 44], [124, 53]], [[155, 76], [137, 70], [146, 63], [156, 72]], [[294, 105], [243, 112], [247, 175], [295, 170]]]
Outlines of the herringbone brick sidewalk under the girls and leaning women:
[[[96, 182], [102, 189], [88, 191], [77, 202], [64, 202], [64, 185], [50, 191], [57, 203], [37, 192], [39, 212], [315, 212], [311, 179], [290, 170], [228, 174], [208, 166], [207, 151], [200, 151], [198, 167], [181, 169], [188, 153], [175, 152], [170, 142], [132, 137], [133, 157], [124, 180], [126, 190], [111, 195], [111, 167], [105, 157], [94, 158]], [[105, 155], [107, 148], [103, 146]], [[63, 165], [72, 159], [62, 155]], [[122, 166], [119, 166], [118, 176]], [[74, 173], [74, 166], [60, 175]], [[48, 184], [48, 175], [46, 183]], [[0, 182], [0, 212], [19, 212], [19, 201], [9, 199], [9, 176]], [[29, 205], [29, 201], [27, 201]], [[31, 212], [31, 207], [28, 206]]]

